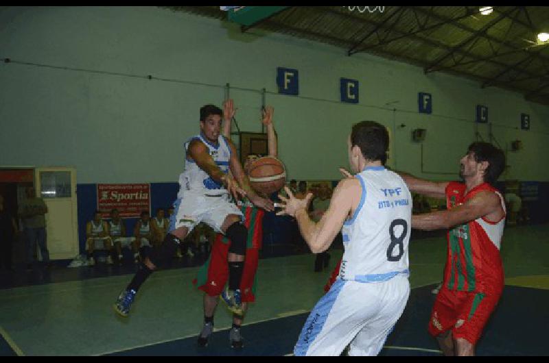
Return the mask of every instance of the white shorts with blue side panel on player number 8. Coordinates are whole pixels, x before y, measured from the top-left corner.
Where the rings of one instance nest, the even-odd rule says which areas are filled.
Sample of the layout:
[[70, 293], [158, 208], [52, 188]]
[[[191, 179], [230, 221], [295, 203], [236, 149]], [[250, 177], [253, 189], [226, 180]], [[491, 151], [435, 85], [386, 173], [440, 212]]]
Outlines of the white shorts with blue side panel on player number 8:
[[377, 355], [410, 296], [407, 275], [378, 283], [337, 279], [307, 318], [294, 355]]

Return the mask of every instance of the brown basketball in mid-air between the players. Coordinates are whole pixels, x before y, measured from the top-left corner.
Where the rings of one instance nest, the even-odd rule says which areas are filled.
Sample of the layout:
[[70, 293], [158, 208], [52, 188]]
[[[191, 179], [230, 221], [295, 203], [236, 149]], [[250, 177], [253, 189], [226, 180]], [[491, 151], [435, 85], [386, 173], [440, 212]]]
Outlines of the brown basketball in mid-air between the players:
[[284, 186], [286, 171], [280, 160], [272, 156], [264, 156], [250, 164], [248, 177], [254, 190], [270, 195]]

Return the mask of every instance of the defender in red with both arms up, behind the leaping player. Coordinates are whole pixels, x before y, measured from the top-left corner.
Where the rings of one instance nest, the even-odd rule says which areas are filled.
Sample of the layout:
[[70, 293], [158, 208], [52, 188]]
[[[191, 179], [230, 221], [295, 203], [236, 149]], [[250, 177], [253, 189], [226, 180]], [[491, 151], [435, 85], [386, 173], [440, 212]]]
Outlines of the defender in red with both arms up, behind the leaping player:
[[[232, 103], [230, 104], [232, 107]], [[277, 136], [274, 133], [272, 125], [272, 115], [274, 109], [268, 106], [264, 110], [263, 120], [261, 121], [267, 127], [268, 153], [269, 156], [277, 158]], [[229, 138], [231, 134], [231, 118], [225, 118], [223, 125], [223, 135]], [[248, 175], [250, 164], [257, 159], [257, 155], [248, 155], [244, 163], [244, 172]], [[255, 301], [255, 273], [259, 262], [259, 249], [263, 240], [263, 217], [264, 210], [261, 210], [247, 199], [237, 201], [240, 210], [246, 216], [246, 227], [248, 228], [248, 238], [246, 240], [246, 260], [244, 260], [244, 272], [240, 282], [242, 291], [242, 310], [243, 314], [233, 314], [233, 327], [229, 331], [229, 340], [231, 347], [244, 347], [244, 340], [241, 334], [242, 321], [248, 303]], [[213, 331], [213, 314], [218, 305], [218, 297], [227, 279], [227, 253], [231, 241], [218, 234], [213, 242], [209, 260], [198, 271], [198, 277], [193, 283], [198, 285], [204, 294], [204, 326], [198, 336], [198, 346], [206, 347], [209, 337]]]

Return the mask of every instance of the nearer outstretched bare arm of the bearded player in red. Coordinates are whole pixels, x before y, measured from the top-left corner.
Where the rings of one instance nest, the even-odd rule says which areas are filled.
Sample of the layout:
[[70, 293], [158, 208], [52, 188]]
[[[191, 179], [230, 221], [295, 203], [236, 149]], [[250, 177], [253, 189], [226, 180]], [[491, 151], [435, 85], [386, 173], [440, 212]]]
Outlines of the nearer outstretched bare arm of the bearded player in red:
[[467, 202], [450, 210], [412, 215], [412, 228], [431, 231], [462, 225], [476, 218], [487, 217], [498, 221], [504, 216], [500, 197], [493, 192], [479, 192]]

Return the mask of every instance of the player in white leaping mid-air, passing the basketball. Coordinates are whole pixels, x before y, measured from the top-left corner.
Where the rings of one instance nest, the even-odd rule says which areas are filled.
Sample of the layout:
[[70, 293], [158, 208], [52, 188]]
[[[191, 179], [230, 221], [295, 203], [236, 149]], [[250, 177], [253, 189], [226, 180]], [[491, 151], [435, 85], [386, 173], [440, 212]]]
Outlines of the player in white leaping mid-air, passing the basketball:
[[[235, 110], [226, 101], [226, 117]], [[231, 239], [229, 248], [229, 286], [223, 291], [223, 300], [229, 310], [242, 314], [240, 280], [244, 269], [248, 229], [242, 223], [242, 212], [229, 199], [229, 193], [238, 199], [246, 196], [259, 208], [273, 210], [272, 202], [259, 197], [250, 187], [242, 171], [235, 145], [220, 135], [224, 112], [214, 105], [200, 108], [200, 134], [185, 142], [185, 171], [179, 176], [178, 199], [170, 219], [169, 233], [158, 248], [140, 264], [126, 290], [122, 291], [114, 308], [121, 316], [128, 316], [135, 294], [157, 266], [165, 264], [176, 248], [196, 225], [204, 222], [215, 231]], [[231, 174], [229, 174], [229, 170]], [[234, 177], [233, 177], [234, 175]]]

